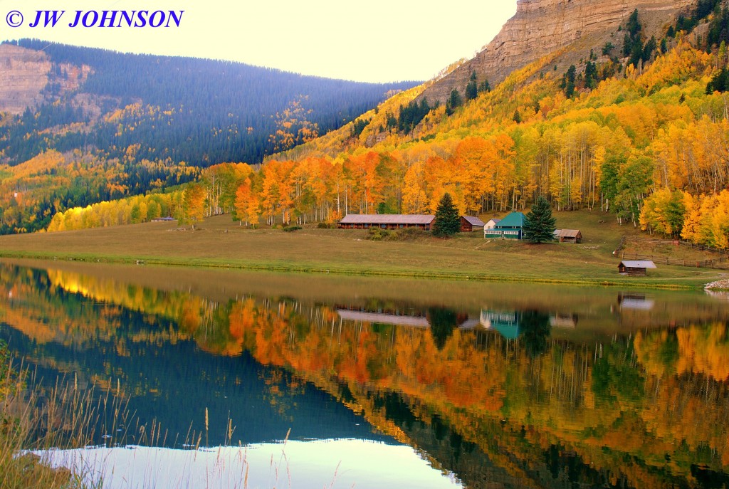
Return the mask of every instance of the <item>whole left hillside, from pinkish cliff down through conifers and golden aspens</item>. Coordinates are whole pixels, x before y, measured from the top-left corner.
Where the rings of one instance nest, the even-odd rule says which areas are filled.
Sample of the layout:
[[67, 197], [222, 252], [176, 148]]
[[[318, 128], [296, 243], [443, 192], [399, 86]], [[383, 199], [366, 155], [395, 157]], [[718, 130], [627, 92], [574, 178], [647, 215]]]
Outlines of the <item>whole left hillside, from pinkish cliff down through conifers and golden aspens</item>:
[[260, 163], [415, 85], [28, 39], [1, 44], [0, 65], [2, 233], [190, 181], [209, 165]]

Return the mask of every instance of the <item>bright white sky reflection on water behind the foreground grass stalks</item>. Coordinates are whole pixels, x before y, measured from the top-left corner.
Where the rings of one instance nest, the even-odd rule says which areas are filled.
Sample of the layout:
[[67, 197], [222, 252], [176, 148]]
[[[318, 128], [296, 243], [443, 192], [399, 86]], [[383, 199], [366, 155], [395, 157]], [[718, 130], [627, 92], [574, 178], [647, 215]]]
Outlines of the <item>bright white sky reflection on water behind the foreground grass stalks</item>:
[[55, 466], [93, 469], [105, 488], [128, 488], [132, 476], [140, 486], [157, 488], [278, 488], [289, 487], [289, 481], [297, 489], [359, 488], [362, 481], [375, 488], [461, 487], [452, 476], [429, 469], [410, 447], [359, 439], [203, 450], [95, 447], [50, 455]]

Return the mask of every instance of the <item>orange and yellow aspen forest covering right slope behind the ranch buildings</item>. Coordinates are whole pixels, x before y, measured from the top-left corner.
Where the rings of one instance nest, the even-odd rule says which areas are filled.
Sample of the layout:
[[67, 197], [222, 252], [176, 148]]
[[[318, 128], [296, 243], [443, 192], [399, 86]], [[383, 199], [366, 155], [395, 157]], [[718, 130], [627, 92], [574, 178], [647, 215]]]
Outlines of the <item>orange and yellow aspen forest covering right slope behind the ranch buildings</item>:
[[[263, 165], [209, 166], [172, 215], [332, 223], [349, 213], [432, 213], [445, 192], [463, 214], [524, 210], [544, 196], [558, 210], [609, 212], [729, 249], [729, 103], [720, 86], [728, 22], [725, 5], [702, 1], [650, 42], [636, 11], [616, 31], [618, 45], [585, 52], [564, 74], [553, 53], [493, 88], [474, 74], [469, 95], [453, 90], [443, 105], [421, 97], [433, 82], [413, 87]], [[679, 29], [685, 23], [718, 37]], [[640, 59], [618, 57], [620, 31], [631, 52], [641, 44]], [[48, 230], [75, 228], [66, 220], [53, 218]]]

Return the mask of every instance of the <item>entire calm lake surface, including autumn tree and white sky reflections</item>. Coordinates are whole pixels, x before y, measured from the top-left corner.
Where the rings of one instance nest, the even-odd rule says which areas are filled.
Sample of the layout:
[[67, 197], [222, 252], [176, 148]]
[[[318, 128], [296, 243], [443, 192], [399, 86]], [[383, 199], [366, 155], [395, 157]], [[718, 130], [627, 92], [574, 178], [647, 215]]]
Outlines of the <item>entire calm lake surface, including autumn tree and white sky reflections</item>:
[[40, 388], [128, 399], [123, 439], [52, 452], [107, 487], [727, 487], [728, 324], [703, 292], [0, 262]]

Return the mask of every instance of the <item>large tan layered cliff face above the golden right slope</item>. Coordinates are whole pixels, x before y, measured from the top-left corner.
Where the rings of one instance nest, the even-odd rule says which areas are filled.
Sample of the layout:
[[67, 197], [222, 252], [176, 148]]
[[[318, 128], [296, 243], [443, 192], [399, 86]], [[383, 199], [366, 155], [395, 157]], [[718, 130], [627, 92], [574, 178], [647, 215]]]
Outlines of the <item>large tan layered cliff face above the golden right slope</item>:
[[515, 69], [562, 48], [567, 49], [557, 64], [565, 71], [566, 66], [586, 59], [590, 48], [599, 50], [606, 42], [620, 47], [623, 33], [617, 28], [635, 9], [650, 37], [693, 4], [695, 0], [518, 0], [516, 14], [494, 40], [434, 83], [424, 96], [445, 101], [453, 88], [462, 94], [474, 70], [479, 81], [486, 78], [496, 85]]

